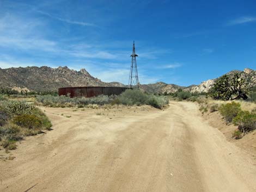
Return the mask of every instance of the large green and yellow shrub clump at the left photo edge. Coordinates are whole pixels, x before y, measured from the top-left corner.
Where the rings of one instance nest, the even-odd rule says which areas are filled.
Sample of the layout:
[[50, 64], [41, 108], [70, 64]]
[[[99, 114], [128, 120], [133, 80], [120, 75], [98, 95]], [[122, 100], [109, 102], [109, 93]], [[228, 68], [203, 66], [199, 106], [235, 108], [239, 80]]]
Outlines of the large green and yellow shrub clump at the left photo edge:
[[48, 117], [25, 102], [0, 102], [0, 145], [5, 150], [16, 148], [23, 136], [36, 135], [52, 126]]

